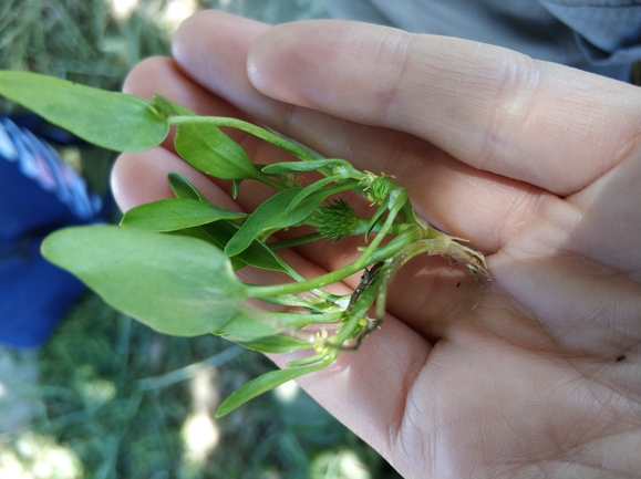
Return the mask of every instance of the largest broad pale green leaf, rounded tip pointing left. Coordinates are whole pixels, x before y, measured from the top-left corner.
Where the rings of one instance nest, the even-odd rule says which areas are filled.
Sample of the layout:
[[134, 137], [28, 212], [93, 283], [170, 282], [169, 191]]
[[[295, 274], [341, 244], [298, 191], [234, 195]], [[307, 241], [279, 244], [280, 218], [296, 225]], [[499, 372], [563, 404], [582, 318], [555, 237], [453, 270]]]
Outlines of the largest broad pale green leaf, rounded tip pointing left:
[[116, 310], [166, 334], [217, 330], [247, 300], [245, 284], [223, 252], [189, 237], [76, 227], [49, 236], [42, 253]]

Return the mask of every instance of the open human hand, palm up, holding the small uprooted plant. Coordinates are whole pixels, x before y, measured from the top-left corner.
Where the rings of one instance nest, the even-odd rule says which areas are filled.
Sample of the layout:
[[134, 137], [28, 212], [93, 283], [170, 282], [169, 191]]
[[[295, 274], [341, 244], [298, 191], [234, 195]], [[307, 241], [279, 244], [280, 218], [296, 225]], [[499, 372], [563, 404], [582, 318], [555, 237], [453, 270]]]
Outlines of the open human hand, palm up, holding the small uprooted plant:
[[[395, 175], [424, 218], [487, 256], [492, 285], [414, 259], [382, 330], [300, 379], [403, 476], [639, 477], [641, 90], [456, 39], [209, 11], [125, 91], [267, 124]], [[232, 137], [256, 163], [287, 159]], [[121, 156], [118, 205], [172, 196], [169, 170], [228, 207], [251, 210], [269, 194], [244, 184], [235, 204], [167, 142]], [[355, 252], [347, 241], [286, 254], [313, 275]]]

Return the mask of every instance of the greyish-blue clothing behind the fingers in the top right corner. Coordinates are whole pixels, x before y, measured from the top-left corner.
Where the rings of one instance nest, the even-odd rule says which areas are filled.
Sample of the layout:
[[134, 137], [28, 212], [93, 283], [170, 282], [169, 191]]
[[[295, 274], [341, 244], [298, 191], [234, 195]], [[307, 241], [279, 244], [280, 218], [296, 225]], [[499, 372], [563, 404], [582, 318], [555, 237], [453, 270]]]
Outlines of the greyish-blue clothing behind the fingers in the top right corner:
[[641, 0], [325, 0], [335, 18], [475, 40], [629, 82]]

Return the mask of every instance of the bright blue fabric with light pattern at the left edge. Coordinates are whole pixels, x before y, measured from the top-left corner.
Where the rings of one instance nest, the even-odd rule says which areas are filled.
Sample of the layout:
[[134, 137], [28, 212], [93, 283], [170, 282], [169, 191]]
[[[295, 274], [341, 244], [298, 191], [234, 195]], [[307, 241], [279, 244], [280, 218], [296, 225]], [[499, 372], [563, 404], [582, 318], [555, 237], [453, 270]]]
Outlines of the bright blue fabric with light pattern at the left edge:
[[51, 146], [0, 117], [1, 343], [34, 347], [50, 336], [85, 288], [49, 263], [40, 244], [55, 229], [103, 214], [101, 199]]

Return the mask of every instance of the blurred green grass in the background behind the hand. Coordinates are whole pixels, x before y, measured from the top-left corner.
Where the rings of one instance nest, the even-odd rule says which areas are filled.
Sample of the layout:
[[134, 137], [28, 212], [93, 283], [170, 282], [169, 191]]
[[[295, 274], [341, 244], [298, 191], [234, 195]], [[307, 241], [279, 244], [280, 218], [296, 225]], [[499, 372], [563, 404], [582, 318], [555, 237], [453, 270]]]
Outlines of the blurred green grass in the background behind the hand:
[[[176, 25], [168, 12], [179, 7], [225, 8], [269, 23], [323, 14], [319, 0], [139, 0], [124, 13], [113, 4], [4, 0], [0, 67], [116, 90], [137, 61], [168, 52]], [[94, 148], [75, 153], [94, 187], [106, 188], [113, 157]], [[39, 381], [15, 386], [33, 405], [32, 418], [0, 434], [0, 477], [396, 477], [292, 385], [216, 420], [221, 398], [273, 365], [215, 336], [157, 334], [92, 293], [72, 308], [37, 361]]]

